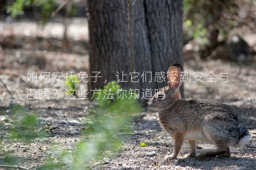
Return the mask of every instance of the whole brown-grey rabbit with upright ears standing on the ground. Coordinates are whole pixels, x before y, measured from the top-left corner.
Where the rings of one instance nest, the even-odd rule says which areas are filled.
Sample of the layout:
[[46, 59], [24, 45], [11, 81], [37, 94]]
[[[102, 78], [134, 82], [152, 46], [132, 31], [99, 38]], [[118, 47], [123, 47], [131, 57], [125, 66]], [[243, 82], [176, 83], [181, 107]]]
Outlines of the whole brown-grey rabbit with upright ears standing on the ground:
[[[186, 157], [230, 157], [230, 146], [240, 147], [251, 135], [236, 111], [229, 105], [207, 99], [181, 99], [179, 87], [182, 65], [175, 63], [168, 69], [168, 86], [148, 101], [148, 107], [158, 112], [160, 125], [175, 140], [171, 155], [176, 159], [185, 141], [190, 153]], [[197, 154], [197, 141], [214, 144], [217, 149], [204, 149]]]

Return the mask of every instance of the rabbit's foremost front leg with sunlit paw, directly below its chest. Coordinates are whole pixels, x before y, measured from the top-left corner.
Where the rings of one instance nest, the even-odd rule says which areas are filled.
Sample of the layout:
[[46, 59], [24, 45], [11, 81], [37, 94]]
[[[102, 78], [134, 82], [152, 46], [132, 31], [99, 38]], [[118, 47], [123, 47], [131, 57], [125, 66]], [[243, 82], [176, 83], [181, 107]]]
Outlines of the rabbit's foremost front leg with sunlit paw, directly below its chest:
[[184, 144], [184, 138], [183, 135], [175, 136], [174, 137], [175, 144], [174, 144], [174, 150], [171, 155], [166, 155], [164, 157], [165, 160], [173, 160], [176, 159], [178, 154], [180, 153], [181, 148], [183, 147]]

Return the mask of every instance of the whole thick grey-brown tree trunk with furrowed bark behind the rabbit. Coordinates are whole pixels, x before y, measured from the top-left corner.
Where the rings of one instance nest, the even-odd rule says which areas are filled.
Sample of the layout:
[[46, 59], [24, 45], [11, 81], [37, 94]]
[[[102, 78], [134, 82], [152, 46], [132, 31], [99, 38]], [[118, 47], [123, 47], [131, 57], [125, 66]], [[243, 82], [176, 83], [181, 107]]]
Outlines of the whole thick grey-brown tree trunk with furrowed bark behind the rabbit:
[[[133, 0], [131, 0], [133, 1]], [[97, 82], [90, 79], [89, 89], [102, 88], [105, 79], [116, 80], [116, 71], [129, 75], [128, 3], [127, 0], [88, 0], [90, 32], [90, 72], [101, 71]], [[181, 0], [137, 0], [133, 6], [133, 47], [135, 72], [143, 71], [152, 82], [143, 82], [136, 88], [158, 89], [166, 82], [154, 82], [155, 73], [166, 72], [182, 57]], [[93, 74], [92, 74], [93, 75]], [[145, 77], [144, 77], [145, 78]], [[130, 88], [130, 81], [121, 82]], [[182, 94], [183, 90], [181, 89]], [[145, 100], [142, 100], [145, 102]]]

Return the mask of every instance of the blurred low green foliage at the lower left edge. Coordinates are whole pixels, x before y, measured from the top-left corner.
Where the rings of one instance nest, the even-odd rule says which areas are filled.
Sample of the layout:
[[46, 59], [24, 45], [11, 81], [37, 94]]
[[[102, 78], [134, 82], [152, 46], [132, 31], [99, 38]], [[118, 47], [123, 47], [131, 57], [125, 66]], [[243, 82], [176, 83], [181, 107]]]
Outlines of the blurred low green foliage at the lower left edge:
[[20, 164], [22, 158], [15, 155], [14, 150], [5, 151], [2, 149], [5, 144], [3, 140], [7, 140], [9, 144], [31, 142], [33, 139], [40, 139], [47, 135], [41, 126], [36, 111], [28, 109], [18, 104], [12, 104], [9, 110], [9, 122], [1, 122], [1, 139], [0, 139], [0, 163], [1, 164]]

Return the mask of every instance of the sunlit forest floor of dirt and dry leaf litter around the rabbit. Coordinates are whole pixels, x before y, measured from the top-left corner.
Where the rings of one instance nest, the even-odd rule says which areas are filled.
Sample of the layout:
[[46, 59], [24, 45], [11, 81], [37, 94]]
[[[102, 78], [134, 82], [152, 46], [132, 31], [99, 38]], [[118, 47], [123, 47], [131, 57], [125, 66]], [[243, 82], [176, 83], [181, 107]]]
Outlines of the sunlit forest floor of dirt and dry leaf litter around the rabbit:
[[[82, 22], [81, 22], [82, 23]], [[6, 26], [1, 23], [1, 26]], [[27, 82], [28, 71], [37, 72], [66, 72], [87, 71], [88, 53], [87, 37], [70, 40], [63, 44], [59, 37], [27, 36], [15, 33], [0, 35], [0, 79], [5, 82], [12, 93], [11, 100], [6, 89], [1, 86], [0, 101], [0, 136], [3, 139], [0, 147], [0, 164], [6, 164], [5, 153], [13, 152], [15, 159], [12, 164], [35, 169], [44, 164], [49, 156], [55, 157], [61, 150], [73, 150], [81, 140], [80, 131], [84, 129], [84, 121], [90, 109], [97, 106], [89, 100], [64, 99], [64, 83], [30, 83]], [[15, 28], [16, 29], [16, 28]], [[22, 29], [22, 28], [20, 28]], [[10, 30], [9, 30], [10, 31]], [[12, 29], [13, 31], [13, 29]], [[76, 31], [74, 31], [75, 34]], [[13, 32], [12, 32], [13, 33]], [[70, 33], [72, 36], [72, 32]], [[79, 37], [80, 35], [78, 35]], [[186, 55], [186, 53], [184, 53]], [[256, 62], [238, 64], [225, 60], [201, 60], [186, 57], [185, 71], [212, 71], [216, 75], [229, 73], [228, 82], [185, 82], [185, 96], [190, 98], [211, 99], [233, 105], [244, 120], [252, 134], [250, 143], [244, 147], [231, 147], [231, 157], [218, 159], [184, 159], [189, 153], [186, 143], [177, 159], [164, 161], [166, 154], [172, 153], [174, 141], [160, 127], [157, 113], [148, 111], [142, 118], [136, 119], [131, 125], [133, 134], [124, 137], [124, 151], [109, 161], [100, 160], [93, 163], [93, 169], [175, 169], [175, 170], [255, 170], [256, 169]], [[86, 88], [86, 84], [80, 84]], [[58, 89], [58, 94], [51, 100], [27, 99], [28, 88]], [[48, 126], [48, 135], [43, 139], [33, 139], [30, 142], [16, 140], [9, 143], [5, 129], [11, 126], [12, 116], [10, 103], [15, 102], [26, 108], [36, 110], [42, 126]], [[140, 147], [140, 142], [148, 143], [147, 147]], [[214, 147], [211, 144], [198, 142], [198, 150]], [[155, 154], [148, 156], [149, 152]], [[58, 160], [56, 160], [58, 162]]]

